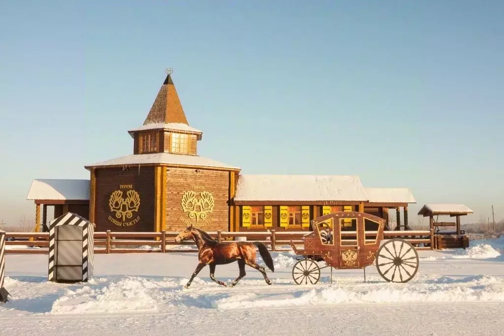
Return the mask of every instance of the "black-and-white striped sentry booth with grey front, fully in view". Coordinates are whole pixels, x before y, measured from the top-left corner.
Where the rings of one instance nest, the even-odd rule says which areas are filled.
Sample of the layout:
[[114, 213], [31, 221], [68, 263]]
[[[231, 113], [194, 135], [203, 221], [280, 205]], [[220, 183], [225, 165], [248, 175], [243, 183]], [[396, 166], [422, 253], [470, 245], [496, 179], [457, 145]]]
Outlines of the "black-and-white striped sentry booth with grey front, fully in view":
[[48, 281], [87, 282], [93, 276], [94, 227], [72, 212], [49, 223]]

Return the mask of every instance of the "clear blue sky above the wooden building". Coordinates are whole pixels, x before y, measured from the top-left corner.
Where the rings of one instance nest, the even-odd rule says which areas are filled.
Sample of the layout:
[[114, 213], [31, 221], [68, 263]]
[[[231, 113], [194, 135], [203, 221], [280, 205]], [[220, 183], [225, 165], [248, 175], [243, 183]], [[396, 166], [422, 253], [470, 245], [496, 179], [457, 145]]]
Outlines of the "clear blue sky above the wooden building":
[[500, 219], [503, 17], [501, 1], [2, 1], [0, 219], [34, 217], [34, 178], [133, 153], [167, 67], [202, 156], [408, 187], [415, 222], [433, 202]]

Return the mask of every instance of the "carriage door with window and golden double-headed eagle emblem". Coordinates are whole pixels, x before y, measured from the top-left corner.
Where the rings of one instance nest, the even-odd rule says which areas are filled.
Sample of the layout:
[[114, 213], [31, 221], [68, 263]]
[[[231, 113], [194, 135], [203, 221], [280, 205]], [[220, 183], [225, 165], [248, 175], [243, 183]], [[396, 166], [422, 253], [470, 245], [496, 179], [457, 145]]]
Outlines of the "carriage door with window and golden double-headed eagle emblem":
[[344, 214], [339, 220], [340, 231], [340, 267], [360, 267], [360, 248], [363, 246], [363, 220], [356, 212]]

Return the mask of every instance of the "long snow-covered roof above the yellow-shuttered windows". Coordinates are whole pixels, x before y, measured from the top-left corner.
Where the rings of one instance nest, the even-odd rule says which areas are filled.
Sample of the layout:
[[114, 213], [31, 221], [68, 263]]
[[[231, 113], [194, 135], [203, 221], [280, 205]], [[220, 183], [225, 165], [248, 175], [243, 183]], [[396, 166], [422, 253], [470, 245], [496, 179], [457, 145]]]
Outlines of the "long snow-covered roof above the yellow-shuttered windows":
[[366, 201], [358, 176], [240, 175], [236, 201]]

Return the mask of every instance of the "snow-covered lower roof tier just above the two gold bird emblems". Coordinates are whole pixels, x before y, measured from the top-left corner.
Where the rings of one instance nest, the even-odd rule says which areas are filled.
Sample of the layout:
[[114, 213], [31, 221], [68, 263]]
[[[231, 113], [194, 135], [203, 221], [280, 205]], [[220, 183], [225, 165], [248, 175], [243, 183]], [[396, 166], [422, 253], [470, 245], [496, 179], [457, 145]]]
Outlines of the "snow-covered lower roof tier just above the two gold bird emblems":
[[152, 164], [164, 163], [175, 164], [183, 166], [201, 166], [201, 167], [214, 167], [226, 168], [231, 170], [239, 170], [239, 167], [234, 167], [219, 161], [215, 161], [203, 156], [198, 155], [183, 155], [172, 153], [153, 153], [153, 154], [131, 154], [121, 157], [116, 157], [110, 160], [97, 162], [86, 165], [86, 167], [93, 166], [108, 166], [108, 165], [128, 165], [128, 164]]

